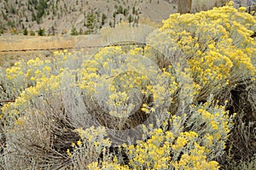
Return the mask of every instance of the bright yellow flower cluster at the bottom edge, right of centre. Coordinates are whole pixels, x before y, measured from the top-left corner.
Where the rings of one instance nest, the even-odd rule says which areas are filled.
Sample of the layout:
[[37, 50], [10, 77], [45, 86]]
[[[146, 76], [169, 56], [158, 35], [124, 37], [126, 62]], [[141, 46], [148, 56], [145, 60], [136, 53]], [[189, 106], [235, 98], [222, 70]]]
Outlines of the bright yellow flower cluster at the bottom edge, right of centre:
[[[177, 119], [177, 117], [173, 117]], [[174, 125], [175, 126], [175, 125]], [[125, 146], [133, 169], [218, 169], [217, 161], [208, 161], [209, 150], [197, 142], [198, 134], [189, 131], [175, 134], [154, 129], [147, 141]]]

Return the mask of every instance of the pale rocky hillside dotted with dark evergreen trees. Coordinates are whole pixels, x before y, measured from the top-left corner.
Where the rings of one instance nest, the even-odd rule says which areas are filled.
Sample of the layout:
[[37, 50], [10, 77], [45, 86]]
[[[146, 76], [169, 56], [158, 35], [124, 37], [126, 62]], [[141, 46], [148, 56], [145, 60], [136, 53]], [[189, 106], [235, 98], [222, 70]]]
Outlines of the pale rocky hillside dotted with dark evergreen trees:
[[[246, 6], [256, 0], [236, 0]], [[195, 0], [195, 12], [220, 0]], [[121, 21], [158, 23], [177, 12], [177, 0], [0, 0], [0, 35], [91, 34]]]

